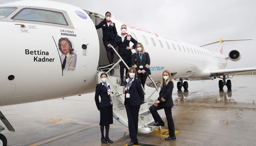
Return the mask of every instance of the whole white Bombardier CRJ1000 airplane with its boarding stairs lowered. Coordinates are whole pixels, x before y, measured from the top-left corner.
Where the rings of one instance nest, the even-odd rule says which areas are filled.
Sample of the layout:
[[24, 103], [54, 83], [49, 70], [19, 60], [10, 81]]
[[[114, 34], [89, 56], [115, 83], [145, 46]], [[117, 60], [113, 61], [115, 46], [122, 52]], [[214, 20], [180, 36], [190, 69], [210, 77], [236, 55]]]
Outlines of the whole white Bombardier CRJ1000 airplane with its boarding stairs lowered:
[[[118, 68], [122, 59], [115, 56], [116, 63], [108, 68], [102, 30], [95, 29], [104, 18], [104, 15], [86, 9], [48, 0], [0, 4], [0, 106], [92, 93], [96, 84], [101, 82], [100, 74], [106, 72], [112, 89], [113, 116], [128, 126]], [[146, 83], [155, 88], [154, 92], [158, 91], [164, 70], [169, 70], [172, 78], [179, 80], [177, 89], [183, 87], [185, 90], [188, 82], [184, 80], [216, 78], [222, 79], [220, 89], [224, 85], [231, 89], [231, 81], [226, 81], [229, 74], [256, 71], [256, 67], [225, 68], [227, 60], [240, 60], [241, 52], [232, 50], [224, 56], [222, 40], [220, 52], [213, 52], [114, 17], [111, 20], [116, 24], [118, 34], [121, 25], [126, 24], [128, 34], [141, 42], [149, 53], [151, 75]], [[69, 57], [75, 60], [67, 61], [68, 70], [62, 67], [63, 53], [71, 51], [62, 50], [64, 46], [73, 50]], [[141, 105], [138, 132], [149, 133], [161, 128], [153, 125], [154, 119], [148, 110], [147, 101], [153, 93], [146, 96], [146, 103]], [[2, 112], [0, 118], [9, 131], [15, 131]], [[2, 130], [4, 127], [0, 125], [0, 132]], [[0, 133], [1, 145], [6, 146], [7, 139]]]

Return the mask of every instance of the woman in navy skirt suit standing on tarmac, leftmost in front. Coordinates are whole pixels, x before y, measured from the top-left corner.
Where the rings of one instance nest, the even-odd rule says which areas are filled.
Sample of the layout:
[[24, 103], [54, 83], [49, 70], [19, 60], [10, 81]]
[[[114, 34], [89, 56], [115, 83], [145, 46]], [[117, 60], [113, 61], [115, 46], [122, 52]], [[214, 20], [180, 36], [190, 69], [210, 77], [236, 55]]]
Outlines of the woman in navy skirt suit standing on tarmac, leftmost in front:
[[[113, 124], [113, 108], [110, 98], [111, 89], [109, 83], [107, 83], [107, 74], [102, 73], [100, 75], [101, 83], [97, 84], [95, 91], [95, 103], [98, 110], [100, 111], [100, 131], [101, 131], [101, 141], [104, 144], [113, 143], [108, 137], [109, 124]], [[99, 96], [101, 101], [99, 101]], [[106, 137], [104, 137], [104, 126], [106, 127]]]

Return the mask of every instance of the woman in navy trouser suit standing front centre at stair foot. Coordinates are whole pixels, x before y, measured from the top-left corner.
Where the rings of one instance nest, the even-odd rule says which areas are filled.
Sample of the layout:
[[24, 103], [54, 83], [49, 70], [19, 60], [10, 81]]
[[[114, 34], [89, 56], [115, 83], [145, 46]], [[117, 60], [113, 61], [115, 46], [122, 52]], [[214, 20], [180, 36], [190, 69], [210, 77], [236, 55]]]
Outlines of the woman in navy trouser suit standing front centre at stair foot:
[[141, 82], [137, 78], [137, 73], [134, 67], [131, 67], [127, 74], [125, 82], [125, 99], [124, 105], [128, 118], [128, 128], [130, 134], [130, 143], [128, 146], [138, 145], [137, 132], [139, 122], [139, 110], [144, 98]]

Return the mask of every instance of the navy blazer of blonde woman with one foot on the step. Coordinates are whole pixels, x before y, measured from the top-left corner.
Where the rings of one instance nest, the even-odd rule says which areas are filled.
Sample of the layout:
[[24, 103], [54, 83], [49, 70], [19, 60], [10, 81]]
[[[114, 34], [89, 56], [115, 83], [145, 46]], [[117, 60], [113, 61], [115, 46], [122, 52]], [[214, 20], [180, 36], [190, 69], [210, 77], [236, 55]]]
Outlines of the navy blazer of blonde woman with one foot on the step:
[[162, 86], [157, 100], [160, 101], [164, 108], [173, 107], [173, 98], [171, 97], [171, 94], [173, 94], [173, 82], [169, 81], [167, 86], [165, 84]]

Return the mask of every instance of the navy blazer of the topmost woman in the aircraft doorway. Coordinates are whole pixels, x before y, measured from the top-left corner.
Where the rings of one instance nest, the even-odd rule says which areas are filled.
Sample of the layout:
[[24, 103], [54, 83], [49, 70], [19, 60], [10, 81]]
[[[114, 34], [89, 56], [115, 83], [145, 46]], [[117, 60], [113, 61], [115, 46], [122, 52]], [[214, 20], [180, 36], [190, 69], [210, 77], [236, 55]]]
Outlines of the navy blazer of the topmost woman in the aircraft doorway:
[[102, 41], [108, 40], [109, 38], [115, 39], [117, 36], [116, 26], [115, 23], [113, 23], [114, 26], [111, 26], [107, 24], [107, 22], [101, 21], [98, 25], [95, 26], [96, 29], [102, 28]]

